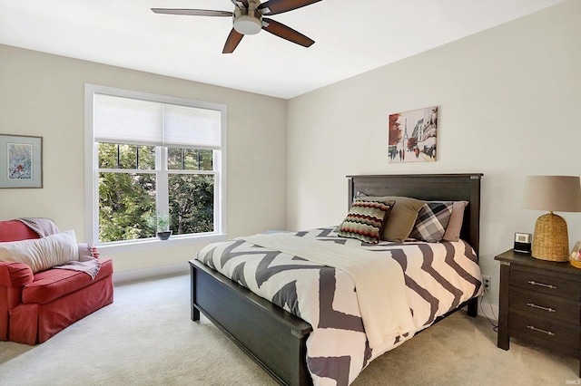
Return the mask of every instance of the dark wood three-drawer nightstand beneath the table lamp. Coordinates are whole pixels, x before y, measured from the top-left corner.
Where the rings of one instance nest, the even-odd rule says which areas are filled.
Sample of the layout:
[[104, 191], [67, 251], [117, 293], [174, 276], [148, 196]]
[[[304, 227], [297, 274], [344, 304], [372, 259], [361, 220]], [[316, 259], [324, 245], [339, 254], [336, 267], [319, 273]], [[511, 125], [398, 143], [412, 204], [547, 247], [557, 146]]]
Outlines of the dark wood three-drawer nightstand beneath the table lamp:
[[515, 337], [581, 359], [581, 269], [512, 249], [495, 260], [500, 262], [497, 346], [508, 350]]

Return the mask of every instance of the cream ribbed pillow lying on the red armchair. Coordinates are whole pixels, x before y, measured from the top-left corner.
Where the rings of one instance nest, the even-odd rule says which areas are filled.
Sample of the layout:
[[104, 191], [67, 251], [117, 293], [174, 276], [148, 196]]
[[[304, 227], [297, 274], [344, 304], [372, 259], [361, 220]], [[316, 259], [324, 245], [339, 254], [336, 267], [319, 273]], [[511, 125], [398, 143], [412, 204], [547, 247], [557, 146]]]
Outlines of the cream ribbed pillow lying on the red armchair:
[[34, 274], [73, 260], [79, 260], [74, 230], [32, 240], [0, 243], [0, 261], [24, 263]]

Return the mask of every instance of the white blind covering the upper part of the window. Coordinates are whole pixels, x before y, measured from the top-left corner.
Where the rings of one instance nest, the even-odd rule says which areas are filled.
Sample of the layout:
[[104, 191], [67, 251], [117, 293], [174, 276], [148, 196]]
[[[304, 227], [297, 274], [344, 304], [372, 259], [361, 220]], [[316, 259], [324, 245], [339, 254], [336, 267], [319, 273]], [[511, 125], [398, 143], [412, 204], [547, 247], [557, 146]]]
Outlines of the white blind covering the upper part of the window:
[[220, 149], [221, 111], [94, 94], [97, 141]]

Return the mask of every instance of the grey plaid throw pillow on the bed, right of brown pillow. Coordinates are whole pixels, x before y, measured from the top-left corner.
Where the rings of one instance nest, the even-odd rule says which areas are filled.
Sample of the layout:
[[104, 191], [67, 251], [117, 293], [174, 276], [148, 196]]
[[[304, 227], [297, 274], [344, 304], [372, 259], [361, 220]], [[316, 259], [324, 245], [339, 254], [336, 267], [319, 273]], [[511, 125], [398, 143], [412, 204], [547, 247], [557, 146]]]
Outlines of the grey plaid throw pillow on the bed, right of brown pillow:
[[409, 236], [428, 243], [441, 241], [446, 233], [453, 206], [454, 203], [451, 201], [428, 201], [425, 203], [419, 208], [416, 225]]

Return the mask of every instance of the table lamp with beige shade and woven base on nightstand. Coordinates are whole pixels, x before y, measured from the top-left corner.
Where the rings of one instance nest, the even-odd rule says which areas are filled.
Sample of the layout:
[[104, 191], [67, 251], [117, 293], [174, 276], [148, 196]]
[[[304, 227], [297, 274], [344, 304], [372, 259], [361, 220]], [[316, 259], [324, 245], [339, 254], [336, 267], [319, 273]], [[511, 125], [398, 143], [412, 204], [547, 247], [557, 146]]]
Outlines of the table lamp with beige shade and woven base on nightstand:
[[537, 218], [531, 255], [541, 260], [568, 261], [566, 221], [556, 212], [581, 212], [581, 179], [572, 176], [527, 176], [522, 207], [548, 210]]

